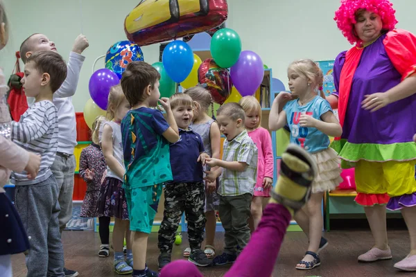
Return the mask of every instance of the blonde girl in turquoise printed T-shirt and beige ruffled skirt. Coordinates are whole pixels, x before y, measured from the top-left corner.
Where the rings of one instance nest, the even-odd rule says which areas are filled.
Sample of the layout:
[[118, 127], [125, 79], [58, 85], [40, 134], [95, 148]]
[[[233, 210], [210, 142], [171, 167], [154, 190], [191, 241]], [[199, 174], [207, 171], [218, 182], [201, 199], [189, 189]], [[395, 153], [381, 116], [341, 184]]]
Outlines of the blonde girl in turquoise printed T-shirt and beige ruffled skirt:
[[[318, 175], [313, 181], [311, 201], [295, 215], [296, 222], [309, 236], [309, 248], [304, 258], [296, 265], [297, 269], [313, 269], [320, 265], [319, 251], [327, 246], [322, 238], [322, 197], [324, 192], [336, 188], [340, 177], [338, 154], [329, 148], [328, 136], [340, 136], [343, 132], [340, 123], [333, 115], [327, 100], [317, 95], [322, 90], [323, 75], [320, 68], [311, 60], [298, 60], [288, 68], [291, 93], [281, 92], [272, 104], [269, 116], [270, 130], [285, 125], [291, 129], [291, 143], [296, 143], [312, 154], [318, 163]], [[297, 100], [291, 100], [297, 96]], [[288, 100], [291, 100], [287, 102]], [[279, 107], [284, 105], [279, 113]]]

